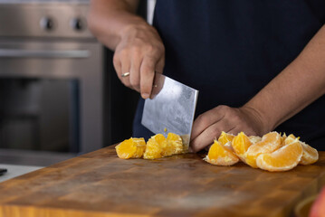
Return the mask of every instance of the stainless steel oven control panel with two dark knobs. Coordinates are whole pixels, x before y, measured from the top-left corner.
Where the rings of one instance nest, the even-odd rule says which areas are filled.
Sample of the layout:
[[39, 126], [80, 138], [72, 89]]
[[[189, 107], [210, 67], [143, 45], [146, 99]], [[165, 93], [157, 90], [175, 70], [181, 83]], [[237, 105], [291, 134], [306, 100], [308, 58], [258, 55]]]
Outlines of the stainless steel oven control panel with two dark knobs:
[[0, 0], [0, 36], [93, 38], [88, 8], [84, 0]]

